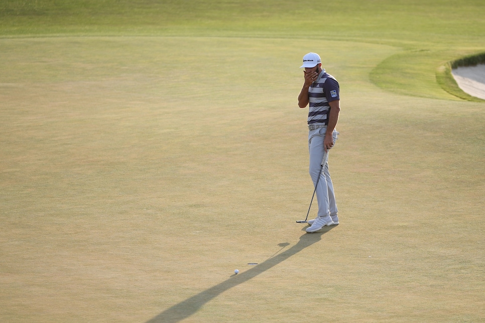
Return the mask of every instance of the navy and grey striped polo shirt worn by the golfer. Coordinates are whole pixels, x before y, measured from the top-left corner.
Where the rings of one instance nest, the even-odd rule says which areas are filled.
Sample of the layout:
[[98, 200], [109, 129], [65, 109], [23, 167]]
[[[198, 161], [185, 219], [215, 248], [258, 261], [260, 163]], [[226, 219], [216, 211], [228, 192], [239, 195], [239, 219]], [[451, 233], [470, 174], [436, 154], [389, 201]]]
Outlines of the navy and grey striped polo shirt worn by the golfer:
[[308, 124], [328, 124], [329, 102], [340, 100], [337, 80], [322, 69], [320, 75], [308, 89], [310, 108]]

